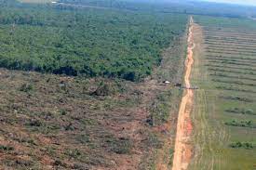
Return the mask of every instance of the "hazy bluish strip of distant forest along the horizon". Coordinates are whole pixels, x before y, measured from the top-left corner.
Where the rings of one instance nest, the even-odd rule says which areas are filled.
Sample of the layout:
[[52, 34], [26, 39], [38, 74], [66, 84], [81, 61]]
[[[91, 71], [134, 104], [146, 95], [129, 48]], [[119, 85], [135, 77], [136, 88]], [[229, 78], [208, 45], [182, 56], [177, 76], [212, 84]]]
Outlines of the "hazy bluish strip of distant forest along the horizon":
[[112, 7], [134, 11], [155, 11], [160, 13], [229, 18], [246, 18], [256, 15], [256, 7], [211, 3], [200, 0], [59, 0], [58, 2], [75, 6]]

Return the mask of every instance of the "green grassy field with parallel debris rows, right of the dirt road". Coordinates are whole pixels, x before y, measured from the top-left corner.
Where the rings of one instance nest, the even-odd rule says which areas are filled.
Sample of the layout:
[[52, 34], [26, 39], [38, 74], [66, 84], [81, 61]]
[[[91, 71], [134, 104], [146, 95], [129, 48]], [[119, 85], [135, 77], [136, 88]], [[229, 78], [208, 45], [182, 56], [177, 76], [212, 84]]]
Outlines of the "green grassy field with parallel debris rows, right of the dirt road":
[[194, 159], [190, 169], [254, 169], [256, 24], [195, 17]]

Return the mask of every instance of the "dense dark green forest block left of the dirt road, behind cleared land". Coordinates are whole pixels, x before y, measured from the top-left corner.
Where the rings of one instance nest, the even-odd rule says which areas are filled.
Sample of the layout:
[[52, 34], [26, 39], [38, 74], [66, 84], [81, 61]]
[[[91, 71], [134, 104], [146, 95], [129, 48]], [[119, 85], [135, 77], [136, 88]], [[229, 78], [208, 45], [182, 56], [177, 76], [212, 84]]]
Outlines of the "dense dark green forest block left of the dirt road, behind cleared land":
[[2, 1], [0, 66], [140, 81], [187, 16]]

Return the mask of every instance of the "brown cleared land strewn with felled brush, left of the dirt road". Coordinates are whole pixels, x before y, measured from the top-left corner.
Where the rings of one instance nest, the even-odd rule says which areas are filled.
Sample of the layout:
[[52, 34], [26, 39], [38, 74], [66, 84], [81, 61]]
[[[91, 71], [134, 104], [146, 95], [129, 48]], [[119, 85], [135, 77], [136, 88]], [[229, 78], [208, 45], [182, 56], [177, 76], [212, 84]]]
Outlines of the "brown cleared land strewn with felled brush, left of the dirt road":
[[184, 45], [142, 83], [1, 69], [0, 169], [170, 168]]

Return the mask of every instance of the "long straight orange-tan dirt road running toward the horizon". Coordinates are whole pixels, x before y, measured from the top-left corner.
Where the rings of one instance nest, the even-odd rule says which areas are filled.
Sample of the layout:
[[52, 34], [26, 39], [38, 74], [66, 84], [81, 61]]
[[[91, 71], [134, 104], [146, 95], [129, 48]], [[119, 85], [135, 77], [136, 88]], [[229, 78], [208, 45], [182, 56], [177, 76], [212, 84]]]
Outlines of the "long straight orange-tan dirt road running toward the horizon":
[[[194, 63], [193, 59], [193, 49], [195, 44], [193, 41], [193, 18], [190, 19], [190, 28], [188, 35], [188, 47], [187, 47], [187, 59], [185, 61], [185, 75], [184, 82], [186, 87], [190, 87], [190, 74], [192, 70], [192, 65]], [[192, 123], [190, 119], [190, 113], [193, 108], [193, 97], [194, 93], [192, 89], [186, 89], [185, 96], [182, 97], [182, 103], [180, 106], [177, 133], [175, 139], [175, 152], [173, 158], [172, 170], [183, 170], [187, 169], [190, 162], [192, 150], [189, 144], [189, 136], [192, 132]]]

